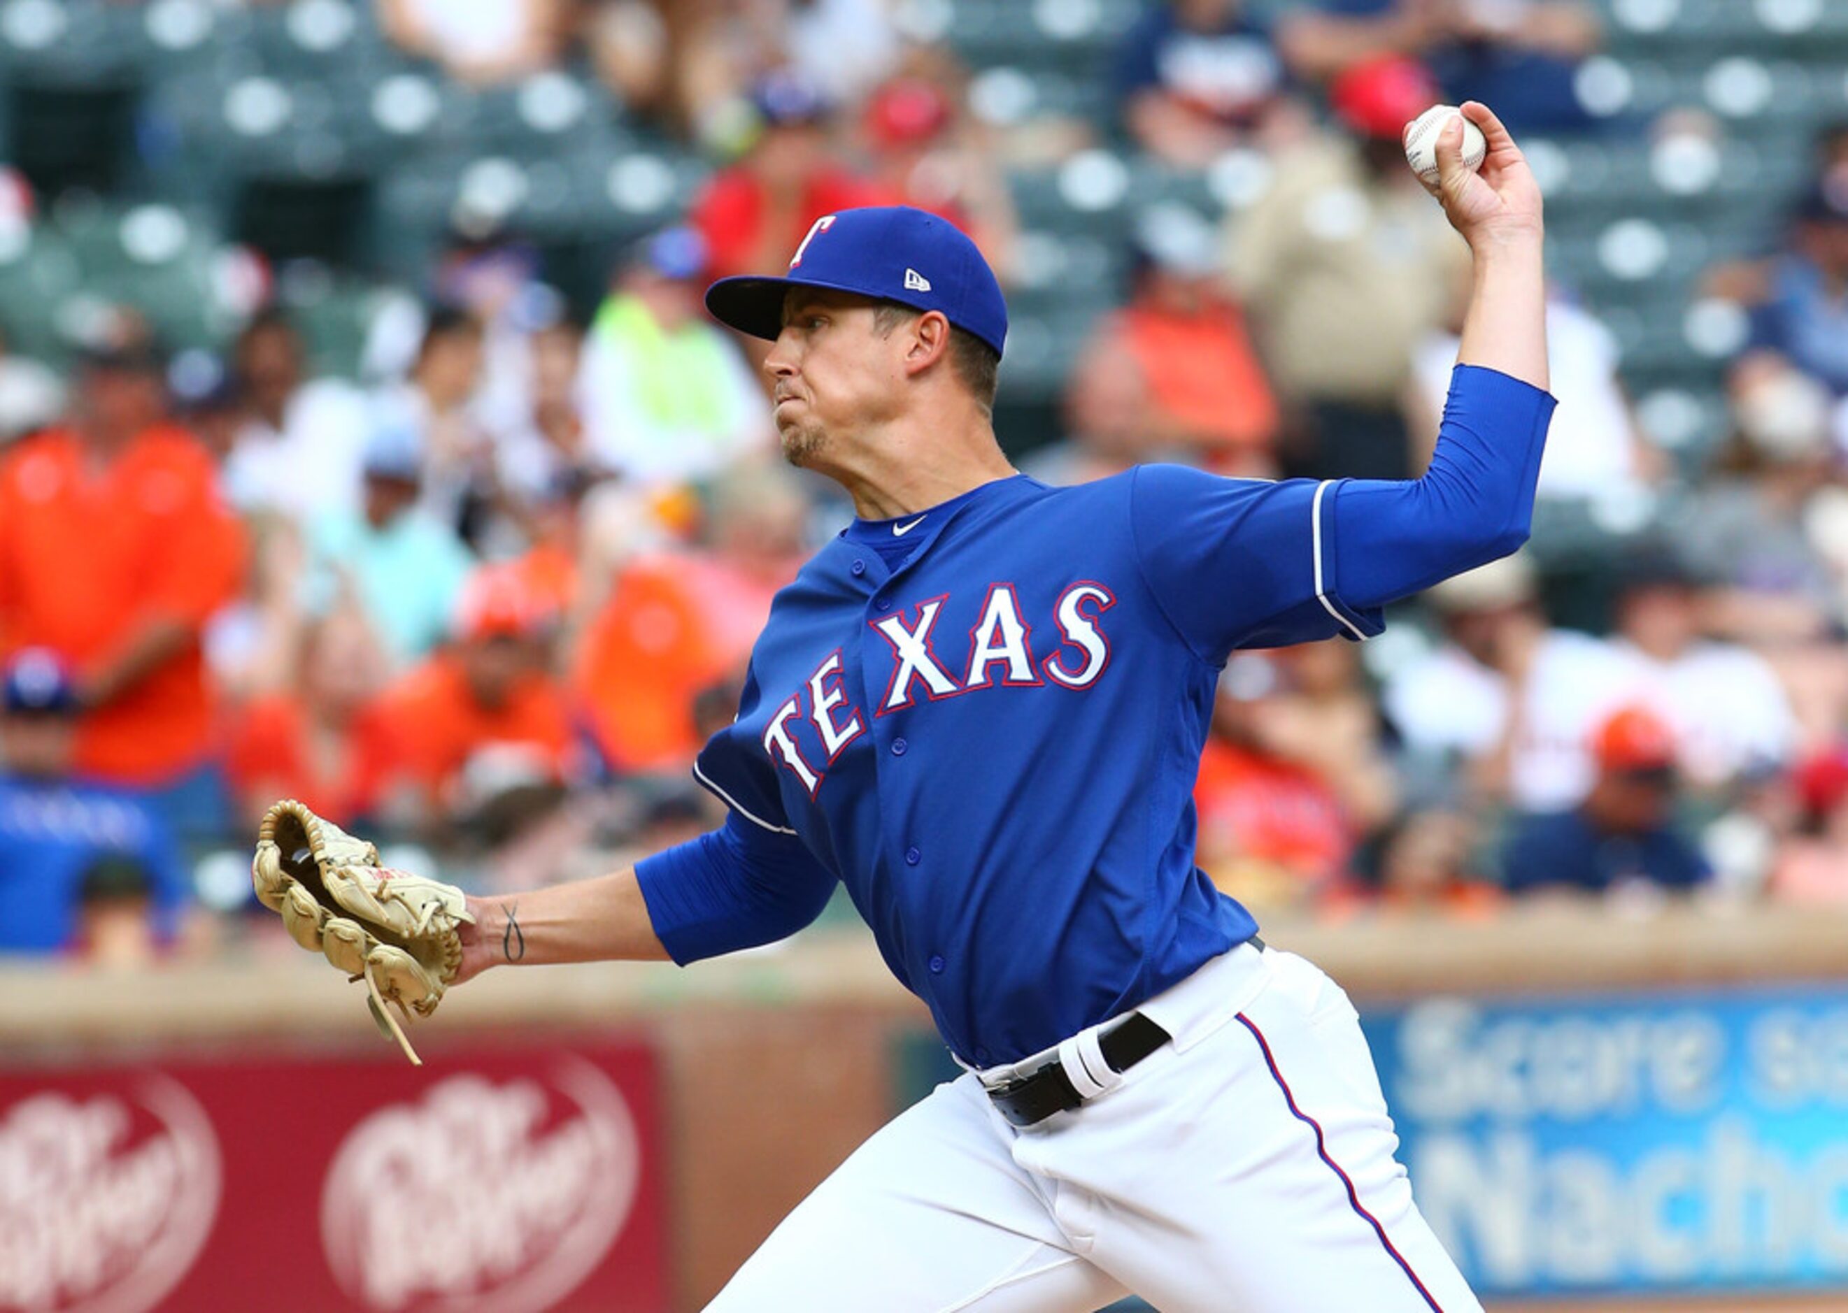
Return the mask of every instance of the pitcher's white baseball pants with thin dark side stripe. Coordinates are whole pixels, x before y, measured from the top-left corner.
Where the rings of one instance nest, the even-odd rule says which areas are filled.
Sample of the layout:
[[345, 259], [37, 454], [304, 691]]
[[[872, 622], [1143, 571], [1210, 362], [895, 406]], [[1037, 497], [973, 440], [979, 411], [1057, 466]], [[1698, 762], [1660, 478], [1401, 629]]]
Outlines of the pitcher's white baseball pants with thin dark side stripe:
[[[708, 1309], [1079, 1313], [1135, 1293], [1162, 1313], [1480, 1313], [1412, 1202], [1358, 1016], [1321, 970], [1240, 946], [1140, 1012], [1173, 1042], [1026, 1130], [983, 1080], [1059, 1049], [937, 1086]], [[1081, 1091], [1098, 1088], [1074, 1054], [1087, 1036], [1061, 1045]]]

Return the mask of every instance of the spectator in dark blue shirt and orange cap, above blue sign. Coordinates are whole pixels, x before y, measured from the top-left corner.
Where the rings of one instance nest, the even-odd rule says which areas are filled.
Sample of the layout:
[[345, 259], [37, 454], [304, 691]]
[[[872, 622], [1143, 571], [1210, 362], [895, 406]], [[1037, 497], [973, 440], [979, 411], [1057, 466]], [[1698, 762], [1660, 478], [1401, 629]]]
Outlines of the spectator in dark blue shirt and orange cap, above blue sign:
[[1597, 783], [1573, 811], [1523, 820], [1502, 853], [1514, 894], [1538, 888], [1608, 892], [1645, 883], [1691, 888], [1711, 873], [1672, 822], [1674, 739], [1643, 707], [1624, 707], [1591, 739]]

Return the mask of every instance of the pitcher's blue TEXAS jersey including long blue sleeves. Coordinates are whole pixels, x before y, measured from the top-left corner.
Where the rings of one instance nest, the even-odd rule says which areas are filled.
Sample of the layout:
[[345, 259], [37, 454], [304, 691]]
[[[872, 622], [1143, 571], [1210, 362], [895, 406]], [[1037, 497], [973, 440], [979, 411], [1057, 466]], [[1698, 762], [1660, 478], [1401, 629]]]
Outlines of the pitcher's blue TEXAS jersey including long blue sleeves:
[[[991, 1066], [1249, 938], [1194, 864], [1220, 669], [1238, 646], [1377, 633], [1388, 596], [1512, 550], [1550, 399], [1480, 386], [1515, 390], [1519, 432], [1458, 438], [1453, 406], [1430, 488], [1148, 465], [854, 523], [776, 596], [737, 720], [699, 755], [726, 829], [638, 868], [667, 951], [774, 938], [841, 881], [950, 1047]], [[1493, 504], [1469, 532], [1419, 528], [1480, 482], [1475, 447], [1499, 452]]]

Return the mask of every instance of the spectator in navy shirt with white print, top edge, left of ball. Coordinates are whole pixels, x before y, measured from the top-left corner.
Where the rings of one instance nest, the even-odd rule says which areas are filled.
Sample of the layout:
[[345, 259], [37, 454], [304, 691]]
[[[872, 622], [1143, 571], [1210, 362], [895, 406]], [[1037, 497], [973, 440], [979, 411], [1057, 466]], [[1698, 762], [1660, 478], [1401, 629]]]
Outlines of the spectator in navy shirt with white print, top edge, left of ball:
[[1283, 92], [1283, 59], [1244, 0], [1153, 6], [1124, 37], [1116, 63], [1124, 126], [1177, 168], [1199, 168], [1244, 142]]

